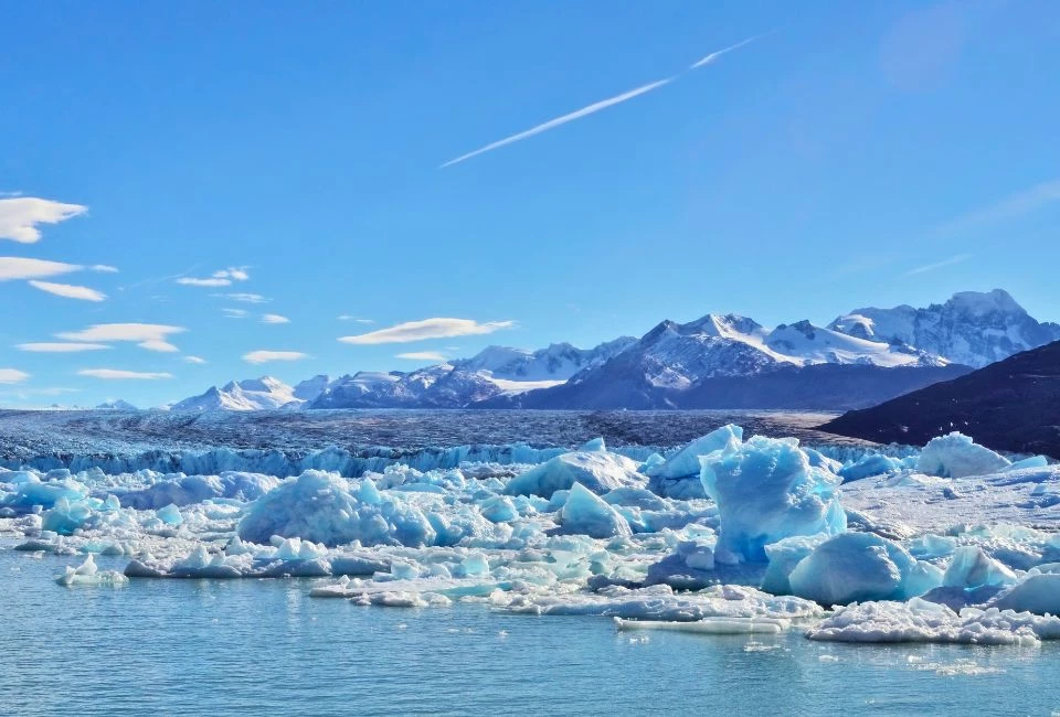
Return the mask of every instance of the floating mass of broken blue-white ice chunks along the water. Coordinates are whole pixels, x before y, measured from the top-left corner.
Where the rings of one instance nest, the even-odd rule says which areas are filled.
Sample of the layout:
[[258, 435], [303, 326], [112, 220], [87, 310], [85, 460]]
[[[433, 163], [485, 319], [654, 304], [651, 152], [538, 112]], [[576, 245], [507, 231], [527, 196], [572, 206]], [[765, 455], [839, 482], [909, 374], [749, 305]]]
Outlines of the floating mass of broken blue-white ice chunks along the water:
[[[266, 450], [255, 470], [225, 449], [149, 460], [0, 469], [0, 533], [67, 563], [56, 580], [70, 587], [293, 576], [320, 598], [623, 630], [1060, 636], [1060, 468], [960, 434], [852, 449], [725, 426], [668, 449]], [[124, 574], [97, 555], [123, 557]]]

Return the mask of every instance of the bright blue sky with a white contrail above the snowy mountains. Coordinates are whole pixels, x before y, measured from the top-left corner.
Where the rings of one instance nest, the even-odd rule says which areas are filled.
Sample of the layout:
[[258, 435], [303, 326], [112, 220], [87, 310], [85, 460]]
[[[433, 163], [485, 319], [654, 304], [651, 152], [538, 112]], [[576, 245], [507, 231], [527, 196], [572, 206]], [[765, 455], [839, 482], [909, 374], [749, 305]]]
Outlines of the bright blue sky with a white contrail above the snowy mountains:
[[[0, 38], [4, 405], [964, 289], [1060, 319], [1056, 3], [6, 3]], [[72, 342], [107, 347], [24, 350]]]

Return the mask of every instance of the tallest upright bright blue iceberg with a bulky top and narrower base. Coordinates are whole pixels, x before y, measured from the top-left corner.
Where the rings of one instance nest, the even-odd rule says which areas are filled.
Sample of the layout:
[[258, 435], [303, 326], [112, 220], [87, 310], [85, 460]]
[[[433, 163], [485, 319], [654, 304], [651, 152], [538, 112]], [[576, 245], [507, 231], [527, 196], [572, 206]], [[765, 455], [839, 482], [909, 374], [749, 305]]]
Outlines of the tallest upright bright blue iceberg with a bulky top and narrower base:
[[837, 493], [842, 479], [815, 467], [794, 438], [754, 436], [700, 462], [703, 490], [720, 514], [721, 561], [764, 563], [770, 543], [847, 527]]

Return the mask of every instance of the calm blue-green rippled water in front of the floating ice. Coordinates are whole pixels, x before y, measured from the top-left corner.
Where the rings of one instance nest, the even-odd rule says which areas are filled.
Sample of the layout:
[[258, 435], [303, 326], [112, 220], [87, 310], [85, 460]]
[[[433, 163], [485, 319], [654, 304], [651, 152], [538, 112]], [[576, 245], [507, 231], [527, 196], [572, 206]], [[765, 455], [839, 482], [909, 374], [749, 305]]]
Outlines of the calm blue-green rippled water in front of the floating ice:
[[81, 560], [0, 548], [0, 714], [1060, 710], [1060, 645], [1049, 643], [871, 646], [814, 643], [797, 632], [754, 641], [619, 633], [607, 619], [512, 616], [481, 604], [363, 608], [310, 598], [312, 581], [297, 579], [134, 580], [120, 589], [53, 582]]

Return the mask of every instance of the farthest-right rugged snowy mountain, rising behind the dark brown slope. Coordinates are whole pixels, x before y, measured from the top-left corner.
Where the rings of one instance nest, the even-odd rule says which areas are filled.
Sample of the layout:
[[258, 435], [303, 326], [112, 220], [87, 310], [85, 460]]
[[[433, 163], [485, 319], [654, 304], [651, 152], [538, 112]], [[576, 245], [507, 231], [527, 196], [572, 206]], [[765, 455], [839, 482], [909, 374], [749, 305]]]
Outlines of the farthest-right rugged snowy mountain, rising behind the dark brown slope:
[[979, 368], [1060, 339], [1060, 324], [1041, 323], [1007, 291], [962, 291], [926, 309], [856, 309], [829, 329], [859, 339], [916, 346]]

